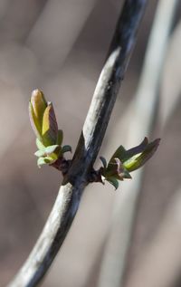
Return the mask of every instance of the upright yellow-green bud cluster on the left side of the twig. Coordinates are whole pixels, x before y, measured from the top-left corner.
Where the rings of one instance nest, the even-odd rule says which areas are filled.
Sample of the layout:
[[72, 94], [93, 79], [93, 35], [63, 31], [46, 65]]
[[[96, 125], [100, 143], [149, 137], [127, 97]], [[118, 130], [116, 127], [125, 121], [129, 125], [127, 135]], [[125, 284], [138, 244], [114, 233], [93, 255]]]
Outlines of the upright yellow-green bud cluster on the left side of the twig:
[[43, 91], [33, 91], [29, 102], [29, 115], [37, 138], [38, 150], [35, 152], [35, 156], [38, 157], [39, 167], [44, 164], [52, 164], [58, 158], [62, 158], [64, 152], [71, 151], [70, 146], [62, 147], [62, 129], [58, 129], [52, 102], [45, 100]]

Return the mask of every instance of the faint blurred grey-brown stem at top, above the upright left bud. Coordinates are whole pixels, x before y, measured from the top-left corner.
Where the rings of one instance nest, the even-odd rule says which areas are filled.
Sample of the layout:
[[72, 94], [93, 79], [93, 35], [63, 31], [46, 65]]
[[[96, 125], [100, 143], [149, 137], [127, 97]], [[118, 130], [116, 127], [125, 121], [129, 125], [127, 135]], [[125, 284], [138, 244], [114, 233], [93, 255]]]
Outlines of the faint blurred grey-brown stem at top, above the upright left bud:
[[27, 38], [45, 71], [60, 69], [95, 5], [96, 0], [84, 0], [83, 5], [81, 0], [47, 1]]

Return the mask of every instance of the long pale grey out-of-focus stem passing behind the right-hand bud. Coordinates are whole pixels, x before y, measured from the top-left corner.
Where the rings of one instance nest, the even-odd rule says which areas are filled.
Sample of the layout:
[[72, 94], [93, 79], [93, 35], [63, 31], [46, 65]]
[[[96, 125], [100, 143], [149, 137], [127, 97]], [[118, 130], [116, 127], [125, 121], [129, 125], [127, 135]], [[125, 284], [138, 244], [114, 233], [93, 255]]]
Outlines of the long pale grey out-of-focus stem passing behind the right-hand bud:
[[[127, 146], [138, 143], [152, 129], [157, 110], [160, 74], [167, 52], [167, 42], [177, 2], [176, 0], [160, 0], [158, 3], [138, 92], [131, 107], [133, 120], [130, 121]], [[122, 187], [122, 193], [116, 197], [110, 237], [100, 270], [99, 287], [123, 286], [123, 276], [138, 207], [142, 175], [143, 169], [138, 170], [137, 177], [130, 181], [129, 185]]]

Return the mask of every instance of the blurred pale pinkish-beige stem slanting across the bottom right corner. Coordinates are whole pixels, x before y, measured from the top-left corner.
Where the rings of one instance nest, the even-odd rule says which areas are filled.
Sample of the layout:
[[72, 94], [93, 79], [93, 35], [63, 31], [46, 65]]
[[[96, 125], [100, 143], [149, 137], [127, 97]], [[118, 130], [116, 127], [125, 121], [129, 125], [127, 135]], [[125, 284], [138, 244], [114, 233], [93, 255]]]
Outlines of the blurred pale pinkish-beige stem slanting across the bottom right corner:
[[[181, 270], [181, 188], [176, 191], [157, 233], [147, 244], [136, 263], [129, 287], [175, 286]], [[177, 286], [180, 286], [177, 285]]]

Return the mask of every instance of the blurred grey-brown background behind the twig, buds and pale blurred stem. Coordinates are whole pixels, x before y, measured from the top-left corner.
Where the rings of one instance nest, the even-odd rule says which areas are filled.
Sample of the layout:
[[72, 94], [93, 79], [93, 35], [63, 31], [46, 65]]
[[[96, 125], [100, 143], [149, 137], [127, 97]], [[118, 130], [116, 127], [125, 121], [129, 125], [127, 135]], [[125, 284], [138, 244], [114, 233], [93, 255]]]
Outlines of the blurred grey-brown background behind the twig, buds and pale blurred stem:
[[[131, 105], [157, 2], [148, 3], [100, 150], [108, 159], [120, 144], [128, 143], [127, 128], [135, 120]], [[129, 248], [122, 244], [128, 231], [119, 223], [126, 217], [119, 216], [117, 203], [129, 210], [124, 188], [130, 181], [121, 183], [116, 192], [109, 184], [92, 184], [82, 196], [44, 287], [181, 286], [181, 5], [177, 2], [151, 133], [149, 129], [145, 134], [162, 140], [141, 176]], [[0, 286], [14, 277], [33, 248], [62, 182], [58, 171], [36, 166], [28, 118], [31, 92], [39, 88], [53, 102], [63, 143], [74, 150], [122, 4], [118, 0], [0, 1]], [[152, 72], [157, 72], [154, 67]], [[147, 94], [145, 99], [141, 110], [149, 106]], [[120, 227], [112, 236], [118, 246], [111, 239], [112, 222]], [[119, 263], [114, 267], [116, 257]], [[116, 270], [123, 275], [114, 282]]]

